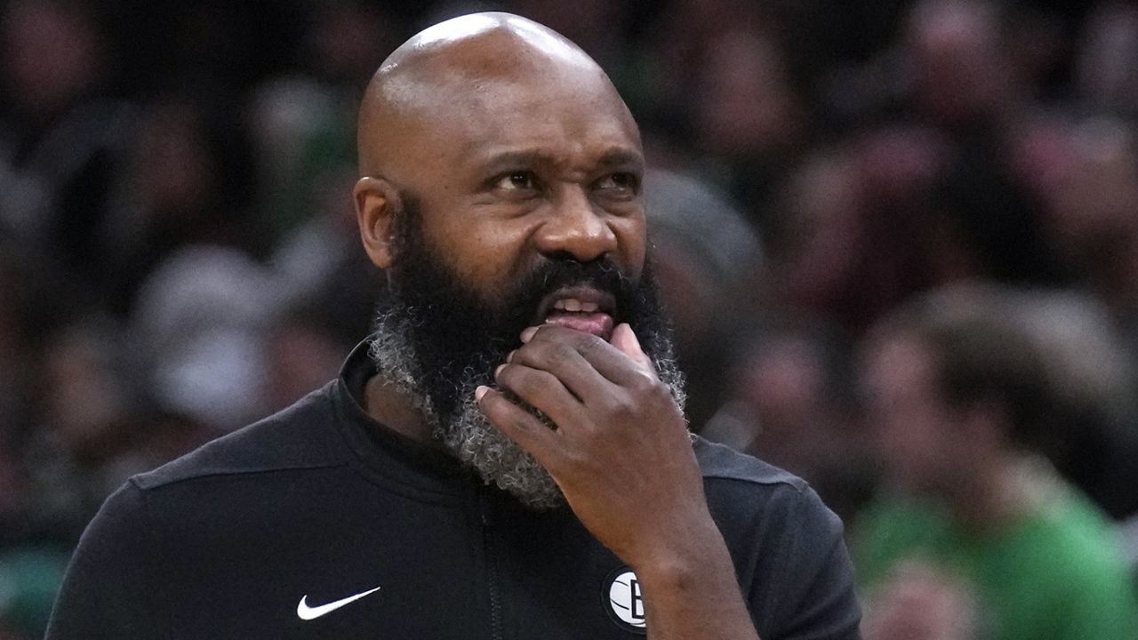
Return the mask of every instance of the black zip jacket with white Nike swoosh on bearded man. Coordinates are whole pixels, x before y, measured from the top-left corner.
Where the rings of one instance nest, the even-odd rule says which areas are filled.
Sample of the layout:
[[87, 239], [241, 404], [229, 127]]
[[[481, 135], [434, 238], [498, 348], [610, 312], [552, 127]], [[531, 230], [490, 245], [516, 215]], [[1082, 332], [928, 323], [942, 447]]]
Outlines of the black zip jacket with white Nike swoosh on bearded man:
[[[370, 364], [357, 348], [327, 387], [131, 478], [84, 533], [48, 639], [644, 633], [635, 576], [570, 510], [526, 510], [373, 422]], [[857, 638], [838, 518], [785, 471], [695, 451], [762, 639]]]

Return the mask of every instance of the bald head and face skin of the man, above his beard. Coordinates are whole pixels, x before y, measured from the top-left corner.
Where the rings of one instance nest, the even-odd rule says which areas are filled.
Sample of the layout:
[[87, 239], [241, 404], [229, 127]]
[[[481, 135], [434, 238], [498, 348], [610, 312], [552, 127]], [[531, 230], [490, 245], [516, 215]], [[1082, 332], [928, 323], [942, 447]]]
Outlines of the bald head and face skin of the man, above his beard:
[[[539, 255], [609, 255], [621, 235], [640, 271], [636, 123], [601, 67], [539, 24], [475, 14], [415, 35], [368, 87], [358, 143], [356, 213], [380, 268], [397, 260], [399, 220], [420, 218], [432, 251], [487, 288]], [[492, 276], [490, 255], [513, 262]]]

